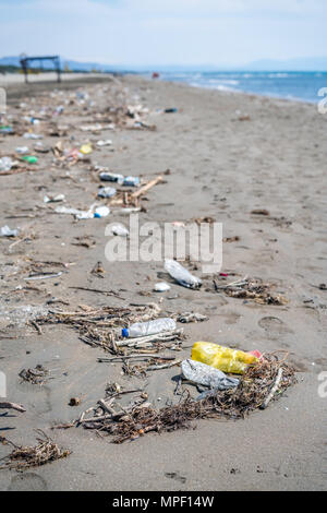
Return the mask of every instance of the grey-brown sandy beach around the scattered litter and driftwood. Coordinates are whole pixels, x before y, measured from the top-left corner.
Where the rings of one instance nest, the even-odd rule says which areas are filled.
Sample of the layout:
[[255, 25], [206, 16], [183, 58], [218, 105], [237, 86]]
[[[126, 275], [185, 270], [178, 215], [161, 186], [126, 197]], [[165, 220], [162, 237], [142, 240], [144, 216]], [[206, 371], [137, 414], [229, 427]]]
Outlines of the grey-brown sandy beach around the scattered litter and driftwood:
[[[26, 408], [24, 414], [0, 413], [0, 436], [34, 444], [34, 430], [43, 429], [72, 451], [68, 458], [24, 473], [2, 470], [0, 489], [326, 490], [327, 397], [319, 393], [318, 377], [327, 370], [327, 293], [320, 286], [327, 271], [327, 115], [316, 105], [136, 75], [81, 76], [28, 86], [0, 77], [0, 86], [7, 88], [8, 115], [19, 120], [17, 133], [0, 135], [0, 158], [25, 145], [38, 156], [34, 170], [0, 176], [0, 226], [19, 228], [22, 235], [0, 237], [0, 370], [7, 375], [8, 401]], [[65, 103], [75, 102], [76, 91], [87, 93], [94, 104]], [[81, 130], [102, 122], [96, 114], [110, 117], [109, 107], [119, 103], [147, 108], [144, 122], [156, 130]], [[35, 127], [22, 120], [31, 110], [36, 116], [44, 105], [53, 110], [63, 106], [51, 119], [57, 135], [49, 135], [49, 120]], [[178, 111], [158, 112], [166, 108]], [[21, 135], [28, 130], [46, 133], [41, 142], [48, 147], [59, 141], [80, 147], [107, 139], [112, 145], [94, 143], [89, 162], [69, 166], [64, 160], [53, 163], [51, 151], [35, 153], [37, 141]], [[218, 294], [211, 277], [203, 276], [196, 265], [192, 272], [204, 282], [199, 290], [171, 283], [162, 262], [108, 262], [106, 225], [128, 226], [125, 217], [111, 212], [106, 218], [77, 222], [55, 212], [62, 204], [89, 208], [100, 184], [92, 170], [95, 165], [144, 182], [162, 176], [142, 202], [142, 223], [161, 226], [213, 217], [222, 223], [225, 238], [235, 238], [223, 243], [221, 272], [227, 279], [263, 279], [288, 302], [258, 305]], [[46, 194], [61, 193], [64, 203], [44, 203]], [[265, 215], [252, 213], [257, 210], [265, 210]], [[35, 262], [48, 262], [38, 269], [61, 274], [28, 282]], [[101, 276], [92, 273], [97, 262]], [[169, 281], [170, 290], [154, 293], [161, 278]], [[72, 287], [113, 290], [119, 297]], [[63, 302], [49, 306], [53, 299]], [[81, 305], [97, 309], [154, 302], [167, 315], [193, 311], [208, 317], [182, 326], [185, 339], [177, 358], [190, 357], [196, 341], [246, 351], [282, 349], [298, 370], [298, 383], [244, 420], [201, 420], [193, 423], [195, 429], [148, 433], [123, 444], [82, 428], [51, 430], [94, 406], [109, 382], [145, 387], [153, 406], [162, 407], [174, 399], [180, 370], [172, 367], [146, 378], [122, 375], [121, 365], [98, 362], [106, 354], [83, 343], [76, 330], [45, 324], [38, 333], [8, 311], [27, 305], [74, 311]], [[49, 369], [51, 379], [43, 386], [22, 383], [20, 371], [36, 365]], [[69, 406], [71, 397], [81, 397], [81, 405]], [[7, 445], [0, 446], [0, 457], [8, 452]]]

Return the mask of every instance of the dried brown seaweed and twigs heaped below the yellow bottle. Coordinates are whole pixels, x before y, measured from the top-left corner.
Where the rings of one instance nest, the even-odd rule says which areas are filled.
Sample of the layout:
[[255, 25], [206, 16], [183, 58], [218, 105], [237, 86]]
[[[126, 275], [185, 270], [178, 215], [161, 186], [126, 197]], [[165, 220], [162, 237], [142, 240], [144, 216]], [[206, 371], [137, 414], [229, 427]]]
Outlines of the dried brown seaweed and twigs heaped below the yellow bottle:
[[159, 410], [150, 405], [135, 406], [125, 415], [104, 415], [84, 419], [84, 428], [114, 437], [114, 443], [134, 440], [149, 431], [173, 431], [189, 429], [191, 421], [203, 418], [244, 418], [250, 411], [266, 407], [269, 395], [280, 396], [295, 383], [294, 369], [278, 360], [277, 356], [265, 355], [257, 366], [251, 367], [241, 378], [237, 389], [216, 392], [204, 399], [194, 401], [189, 395], [177, 405]]

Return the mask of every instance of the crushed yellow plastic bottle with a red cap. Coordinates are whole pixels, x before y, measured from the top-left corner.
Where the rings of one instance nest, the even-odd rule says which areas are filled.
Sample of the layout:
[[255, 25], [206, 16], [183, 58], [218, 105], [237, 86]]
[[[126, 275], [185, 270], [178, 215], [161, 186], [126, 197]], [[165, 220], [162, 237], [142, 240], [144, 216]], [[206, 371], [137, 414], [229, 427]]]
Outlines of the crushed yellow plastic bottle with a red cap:
[[258, 362], [258, 359], [249, 353], [219, 346], [210, 342], [196, 342], [192, 347], [191, 358], [215, 367], [215, 369], [222, 372], [233, 374], [243, 374], [249, 366]]

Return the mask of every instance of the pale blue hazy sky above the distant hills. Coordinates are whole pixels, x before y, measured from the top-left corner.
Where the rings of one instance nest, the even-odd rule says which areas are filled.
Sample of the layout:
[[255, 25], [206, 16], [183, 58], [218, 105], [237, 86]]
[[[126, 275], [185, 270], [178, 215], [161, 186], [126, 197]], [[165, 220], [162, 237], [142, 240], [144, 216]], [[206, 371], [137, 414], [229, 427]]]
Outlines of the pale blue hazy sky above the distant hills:
[[326, 57], [327, 0], [0, 0], [0, 57], [243, 65]]

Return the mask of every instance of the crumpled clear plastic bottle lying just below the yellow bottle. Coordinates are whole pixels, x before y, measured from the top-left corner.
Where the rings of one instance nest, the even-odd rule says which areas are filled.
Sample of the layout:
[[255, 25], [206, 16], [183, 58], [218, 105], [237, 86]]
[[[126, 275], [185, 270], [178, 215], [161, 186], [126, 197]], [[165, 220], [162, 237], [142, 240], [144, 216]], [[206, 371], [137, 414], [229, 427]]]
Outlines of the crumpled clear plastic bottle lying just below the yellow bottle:
[[240, 384], [237, 378], [226, 375], [221, 370], [202, 363], [201, 361], [183, 360], [181, 363], [182, 373], [186, 380], [194, 383], [209, 386], [216, 390], [234, 389]]

